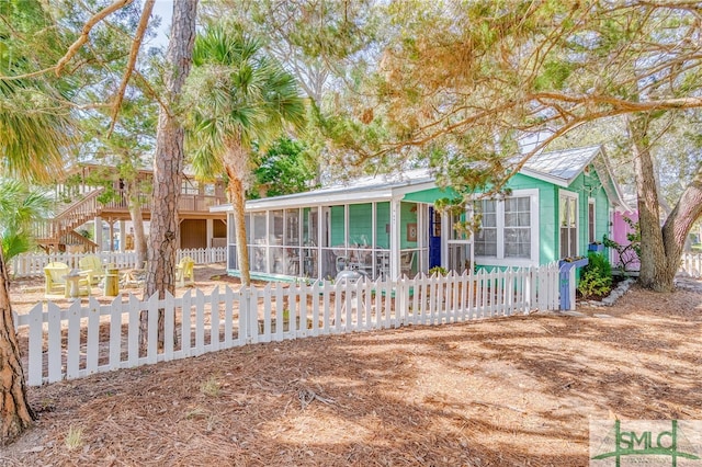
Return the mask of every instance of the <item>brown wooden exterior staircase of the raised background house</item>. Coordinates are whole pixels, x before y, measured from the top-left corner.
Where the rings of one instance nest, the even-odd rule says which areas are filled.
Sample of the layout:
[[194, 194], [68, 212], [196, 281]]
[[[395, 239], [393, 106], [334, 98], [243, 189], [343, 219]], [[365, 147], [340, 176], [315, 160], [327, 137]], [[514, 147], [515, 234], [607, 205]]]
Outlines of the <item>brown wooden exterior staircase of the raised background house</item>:
[[39, 247], [46, 251], [58, 251], [61, 244], [83, 244], [86, 251], [94, 252], [98, 243], [81, 236], [76, 229], [100, 215], [102, 206], [98, 196], [102, 191], [102, 187], [94, 190], [68, 205], [53, 219], [37, 223], [35, 232]]

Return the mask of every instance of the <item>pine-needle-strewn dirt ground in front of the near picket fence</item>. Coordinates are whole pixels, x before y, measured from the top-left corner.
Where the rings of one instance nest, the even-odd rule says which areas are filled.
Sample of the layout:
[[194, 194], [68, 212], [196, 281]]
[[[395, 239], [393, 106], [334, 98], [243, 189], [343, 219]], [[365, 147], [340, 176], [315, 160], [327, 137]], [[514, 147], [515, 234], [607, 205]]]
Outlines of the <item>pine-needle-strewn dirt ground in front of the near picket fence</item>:
[[582, 317], [256, 344], [31, 388], [38, 420], [0, 465], [586, 466], [591, 419], [702, 420], [701, 310], [700, 292], [633, 288]]

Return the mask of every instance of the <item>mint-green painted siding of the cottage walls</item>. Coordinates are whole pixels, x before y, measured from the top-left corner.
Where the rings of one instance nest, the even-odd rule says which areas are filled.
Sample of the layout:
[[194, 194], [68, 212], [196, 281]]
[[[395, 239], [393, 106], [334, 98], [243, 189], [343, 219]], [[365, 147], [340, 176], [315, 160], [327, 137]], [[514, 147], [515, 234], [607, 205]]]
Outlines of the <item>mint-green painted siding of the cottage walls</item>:
[[[580, 166], [581, 167], [581, 166]], [[599, 166], [598, 166], [599, 167]], [[528, 174], [526, 174], [528, 173]], [[516, 258], [512, 252], [511, 255], [505, 254], [503, 241], [507, 237], [501, 237], [501, 242], [498, 242], [497, 255], [494, 258], [479, 258], [475, 257], [475, 263], [477, 266], [485, 266], [491, 269], [492, 265], [499, 267], [514, 266], [514, 265], [536, 265], [547, 264], [553, 261], [557, 261], [562, 258], [561, 250], [561, 227], [559, 227], [559, 198], [564, 193], [577, 194], [577, 212], [578, 212], [578, 231], [577, 231], [577, 253], [580, 255], [587, 254], [589, 242], [589, 229], [588, 229], [588, 203], [590, 200], [595, 201], [596, 206], [596, 230], [595, 236], [597, 241], [601, 241], [605, 235], [610, 232], [610, 213], [612, 204], [608, 198], [608, 191], [602, 186], [602, 182], [599, 174], [605, 178], [605, 182], [610, 183], [608, 173], [598, 172], [593, 164], [590, 164], [584, 172], [580, 172], [568, 186], [564, 186], [564, 179], [557, 175], [542, 175], [536, 171], [526, 171], [526, 173], [518, 173], [513, 175], [505, 185], [505, 189], [511, 190], [513, 196], [530, 196], [531, 208], [531, 254], [530, 258]], [[558, 173], [554, 170], [554, 173]], [[570, 172], [574, 173], [574, 172]], [[408, 193], [410, 190], [417, 190]], [[423, 189], [423, 190], [422, 190]], [[611, 193], [611, 191], [609, 191]], [[346, 194], [346, 193], [344, 193]], [[429, 243], [427, 238], [429, 237], [427, 204], [434, 204], [441, 198], [455, 198], [457, 193], [452, 189], [429, 187], [428, 184], [421, 184], [418, 186], [400, 186], [397, 191], [387, 191], [382, 193], [383, 197], [375, 195], [373, 201], [369, 198], [356, 198], [353, 193], [349, 193], [348, 197], [341, 198], [336, 195], [335, 198], [321, 200], [315, 198], [314, 204], [318, 206], [315, 210], [319, 209], [318, 228], [315, 227], [314, 231], [308, 232], [308, 216], [312, 213], [307, 206], [299, 205], [303, 209], [303, 236], [307, 240], [318, 240], [319, 246], [319, 266], [315, 266], [314, 270], [318, 271], [322, 276], [330, 275], [335, 271], [335, 264], [330, 261], [333, 254], [347, 254], [349, 258], [354, 258], [353, 246], [366, 244], [376, 249], [388, 249], [390, 247], [390, 236], [397, 240], [397, 244], [392, 248], [390, 257], [390, 274], [398, 274], [397, 267], [399, 267], [398, 254], [408, 250], [414, 250], [412, 254], [419, 252], [418, 260], [416, 262], [417, 271], [427, 271], [429, 263]], [[377, 198], [377, 200], [376, 200]], [[383, 201], [381, 201], [383, 200]], [[387, 201], [392, 200], [392, 201]], [[285, 200], [290, 204], [290, 200]], [[335, 204], [336, 203], [336, 204]], [[397, 204], [396, 204], [397, 203]], [[270, 204], [270, 203], [269, 203]], [[271, 206], [273, 206], [271, 204]], [[499, 209], [503, 212], [503, 205]], [[398, 225], [392, 229], [390, 234], [390, 214], [394, 213], [397, 207]], [[265, 209], [264, 206], [260, 206], [261, 209]], [[295, 207], [297, 209], [297, 207]], [[252, 216], [256, 210], [252, 210]], [[270, 212], [270, 209], [265, 209]], [[421, 214], [421, 215], [418, 215]], [[375, 219], [375, 221], [374, 221]], [[502, 219], [500, 217], [500, 219]], [[505, 220], [498, 219], [498, 228], [503, 228]], [[256, 232], [256, 223], [249, 226]], [[269, 223], [270, 224], [270, 223]], [[409, 225], [416, 224], [417, 240], [410, 241], [408, 239]], [[430, 223], [429, 223], [430, 224]], [[415, 227], [415, 226], [414, 226]], [[249, 229], [249, 231], [251, 231]], [[444, 227], [446, 229], [444, 219]], [[317, 232], [322, 235], [322, 238], [316, 239]], [[512, 235], [513, 232], [510, 232]], [[449, 231], [443, 232], [444, 236], [450, 235]], [[502, 235], [502, 232], [500, 232]], [[329, 236], [329, 237], [327, 237]], [[249, 235], [249, 237], [251, 237]], [[257, 237], [256, 235], [253, 237]], [[258, 237], [257, 237], [258, 238]], [[256, 240], [257, 238], [249, 239]], [[268, 240], [268, 239], [264, 239]], [[449, 249], [444, 251], [446, 243], [450, 244]], [[441, 261], [455, 262], [450, 260], [450, 254], [455, 252], [456, 241], [449, 238], [443, 239], [442, 243], [442, 259]], [[258, 243], [257, 243], [258, 244]], [[416, 250], [419, 246], [422, 246], [420, 250]], [[343, 252], [332, 252], [331, 248], [344, 247]], [[331, 247], [331, 248], [329, 248]], [[274, 248], [275, 244], [269, 244], [269, 250], [278, 252]], [[454, 248], [454, 250], [451, 250]], [[302, 251], [302, 250], [301, 250]], [[435, 249], [432, 250], [435, 252]], [[511, 251], [511, 250], [510, 250]], [[299, 254], [303, 254], [298, 252]], [[333, 253], [333, 254], [332, 254]], [[309, 254], [305, 251], [305, 254]], [[358, 252], [355, 253], [358, 255]], [[463, 254], [463, 253], [462, 253]], [[473, 259], [473, 253], [471, 258]], [[270, 252], [269, 252], [270, 255]], [[302, 258], [302, 257], [301, 257]], [[377, 257], [373, 257], [373, 274], [378, 271], [377, 264], [381, 260]], [[385, 260], [387, 261], [387, 260]], [[306, 260], [299, 259], [299, 264], [306, 264]], [[329, 264], [327, 264], [329, 263]], [[297, 263], [293, 263], [295, 265]], [[365, 262], [363, 263], [365, 264]], [[270, 264], [269, 264], [270, 266]], [[290, 267], [288, 267], [290, 269]], [[291, 270], [294, 271], [294, 270]], [[287, 274], [291, 272], [288, 271]], [[296, 272], [294, 272], [296, 274]], [[305, 267], [305, 273], [308, 272], [308, 267]], [[380, 273], [378, 273], [380, 274]], [[387, 272], [386, 272], [387, 274]]]

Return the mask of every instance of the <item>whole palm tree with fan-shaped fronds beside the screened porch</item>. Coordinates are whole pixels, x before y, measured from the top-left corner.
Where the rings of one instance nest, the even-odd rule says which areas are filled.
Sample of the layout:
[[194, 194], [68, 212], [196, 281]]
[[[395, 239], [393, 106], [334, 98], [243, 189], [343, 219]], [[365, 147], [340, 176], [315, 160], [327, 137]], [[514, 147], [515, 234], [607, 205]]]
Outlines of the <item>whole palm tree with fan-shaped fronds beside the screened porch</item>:
[[248, 286], [244, 196], [252, 144], [276, 138], [285, 123], [302, 126], [305, 102], [292, 75], [262, 54], [259, 39], [236, 26], [212, 26], [195, 39], [188, 90], [192, 163], [201, 176], [227, 174], [241, 283]]

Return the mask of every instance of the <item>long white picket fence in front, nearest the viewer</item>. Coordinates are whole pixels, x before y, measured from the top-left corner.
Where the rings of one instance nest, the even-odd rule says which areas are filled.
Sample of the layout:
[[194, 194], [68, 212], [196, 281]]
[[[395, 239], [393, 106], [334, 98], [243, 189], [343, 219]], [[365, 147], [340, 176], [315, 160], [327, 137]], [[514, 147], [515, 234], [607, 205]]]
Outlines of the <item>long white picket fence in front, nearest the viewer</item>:
[[[443, 324], [558, 308], [558, 265], [418, 276], [398, 282], [268, 284], [264, 288], [183, 297], [134, 296], [101, 305], [89, 298], [68, 309], [37, 304], [15, 316], [26, 331], [27, 383], [37, 386], [99, 372], [184, 358], [256, 342], [350, 333], [408, 324]], [[165, 343], [158, 346], [158, 310]], [[139, 317], [148, 323], [139, 349]]]

